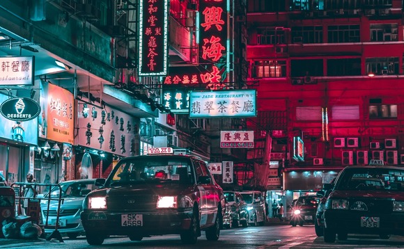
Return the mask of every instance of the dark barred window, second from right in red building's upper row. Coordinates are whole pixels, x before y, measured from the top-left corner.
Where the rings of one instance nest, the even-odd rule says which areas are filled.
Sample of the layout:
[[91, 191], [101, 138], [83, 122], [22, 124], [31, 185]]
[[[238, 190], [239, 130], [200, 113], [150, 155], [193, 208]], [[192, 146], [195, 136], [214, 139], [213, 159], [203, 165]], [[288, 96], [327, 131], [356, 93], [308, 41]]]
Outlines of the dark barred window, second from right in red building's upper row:
[[328, 42], [360, 42], [359, 25], [332, 25], [328, 26]]

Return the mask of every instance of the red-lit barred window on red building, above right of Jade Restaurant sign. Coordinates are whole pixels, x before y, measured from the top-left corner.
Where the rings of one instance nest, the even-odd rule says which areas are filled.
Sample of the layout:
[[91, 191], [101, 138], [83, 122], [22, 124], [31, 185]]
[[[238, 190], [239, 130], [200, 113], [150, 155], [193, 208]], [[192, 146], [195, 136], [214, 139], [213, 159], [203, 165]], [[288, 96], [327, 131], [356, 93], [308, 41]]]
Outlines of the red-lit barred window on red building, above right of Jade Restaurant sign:
[[286, 61], [254, 61], [253, 78], [286, 77]]

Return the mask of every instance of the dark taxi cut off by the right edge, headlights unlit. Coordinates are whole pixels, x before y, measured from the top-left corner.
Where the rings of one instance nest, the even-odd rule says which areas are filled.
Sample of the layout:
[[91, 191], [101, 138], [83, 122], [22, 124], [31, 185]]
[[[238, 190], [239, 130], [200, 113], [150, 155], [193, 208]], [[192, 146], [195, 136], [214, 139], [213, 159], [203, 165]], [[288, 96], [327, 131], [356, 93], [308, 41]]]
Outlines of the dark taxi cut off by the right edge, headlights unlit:
[[348, 234], [404, 234], [404, 168], [348, 166], [339, 172], [325, 202], [324, 241]]

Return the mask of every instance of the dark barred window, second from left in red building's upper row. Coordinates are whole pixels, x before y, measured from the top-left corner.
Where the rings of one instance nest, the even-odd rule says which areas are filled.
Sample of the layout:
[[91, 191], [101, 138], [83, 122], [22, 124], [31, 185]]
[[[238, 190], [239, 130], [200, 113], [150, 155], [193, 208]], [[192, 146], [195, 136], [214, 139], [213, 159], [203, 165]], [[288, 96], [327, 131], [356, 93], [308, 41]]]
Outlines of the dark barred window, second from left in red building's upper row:
[[292, 27], [293, 43], [323, 43], [323, 26]]

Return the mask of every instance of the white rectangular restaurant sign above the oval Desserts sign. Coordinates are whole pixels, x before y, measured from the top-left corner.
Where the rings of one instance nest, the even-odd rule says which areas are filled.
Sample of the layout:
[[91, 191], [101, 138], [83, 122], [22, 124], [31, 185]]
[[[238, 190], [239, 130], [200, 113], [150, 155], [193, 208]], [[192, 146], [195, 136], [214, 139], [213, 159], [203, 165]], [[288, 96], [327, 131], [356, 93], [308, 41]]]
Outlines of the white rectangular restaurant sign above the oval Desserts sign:
[[0, 57], [0, 85], [33, 85], [33, 56]]

